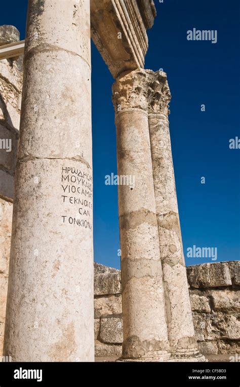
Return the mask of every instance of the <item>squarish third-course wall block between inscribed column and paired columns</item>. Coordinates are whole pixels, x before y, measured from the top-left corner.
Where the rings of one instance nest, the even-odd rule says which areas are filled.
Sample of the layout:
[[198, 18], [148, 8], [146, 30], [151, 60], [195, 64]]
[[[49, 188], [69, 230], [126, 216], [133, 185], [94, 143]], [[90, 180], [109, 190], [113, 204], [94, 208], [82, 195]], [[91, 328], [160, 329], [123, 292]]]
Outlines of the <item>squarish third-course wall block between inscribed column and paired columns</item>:
[[123, 320], [121, 317], [103, 318], [100, 322], [100, 339], [103, 343], [123, 342]]

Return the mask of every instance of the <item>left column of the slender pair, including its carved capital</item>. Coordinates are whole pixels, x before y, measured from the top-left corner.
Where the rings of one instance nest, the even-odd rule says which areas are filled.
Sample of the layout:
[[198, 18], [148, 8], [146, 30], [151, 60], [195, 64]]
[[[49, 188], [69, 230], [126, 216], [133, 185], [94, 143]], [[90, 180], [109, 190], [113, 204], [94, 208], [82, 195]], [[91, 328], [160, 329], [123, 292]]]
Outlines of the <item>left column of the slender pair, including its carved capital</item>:
[[147, 113], [148, 77], [137, 69], [113, 85], [125, 361], [169, 359]]

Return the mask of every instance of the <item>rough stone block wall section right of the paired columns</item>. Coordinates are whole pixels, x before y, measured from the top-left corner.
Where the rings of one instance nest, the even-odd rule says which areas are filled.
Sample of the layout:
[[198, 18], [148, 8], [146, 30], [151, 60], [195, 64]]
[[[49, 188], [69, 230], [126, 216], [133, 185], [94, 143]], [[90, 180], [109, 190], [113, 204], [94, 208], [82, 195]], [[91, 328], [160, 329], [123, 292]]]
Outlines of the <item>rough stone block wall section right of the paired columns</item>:
[[240, 261], [187, 268], [195, 334], [204, 354], [240, 354]]

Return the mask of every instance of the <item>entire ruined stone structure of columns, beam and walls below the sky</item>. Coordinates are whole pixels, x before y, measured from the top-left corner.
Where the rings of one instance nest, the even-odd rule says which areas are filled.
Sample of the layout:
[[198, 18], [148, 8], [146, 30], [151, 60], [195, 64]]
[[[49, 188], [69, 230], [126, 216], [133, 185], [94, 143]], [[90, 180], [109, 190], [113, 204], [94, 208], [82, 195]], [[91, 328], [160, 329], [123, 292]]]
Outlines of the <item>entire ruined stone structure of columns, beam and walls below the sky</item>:
[[[237, 353], [239, 262], [185, 268], [170, 89], [144, 69], [153, 0], [28, 3], [25, 42], [0, 27], [0, 354], [94, 361], [94, 343], [125, 362]], [[118, 175], [135, 177], [118, 186], [121, 281], [94, 270], [91, 38], [115, 79]]]

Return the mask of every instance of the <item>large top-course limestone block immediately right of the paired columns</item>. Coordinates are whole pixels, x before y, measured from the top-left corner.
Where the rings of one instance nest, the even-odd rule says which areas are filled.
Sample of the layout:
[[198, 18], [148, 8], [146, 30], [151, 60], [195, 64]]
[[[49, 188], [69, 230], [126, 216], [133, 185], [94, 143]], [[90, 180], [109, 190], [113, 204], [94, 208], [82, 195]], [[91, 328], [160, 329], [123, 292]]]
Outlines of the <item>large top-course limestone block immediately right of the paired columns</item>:
[[188, 266], [187, 276], [189, 285], [193, 288], [215, 288], [232, 284], [227, 262]]

